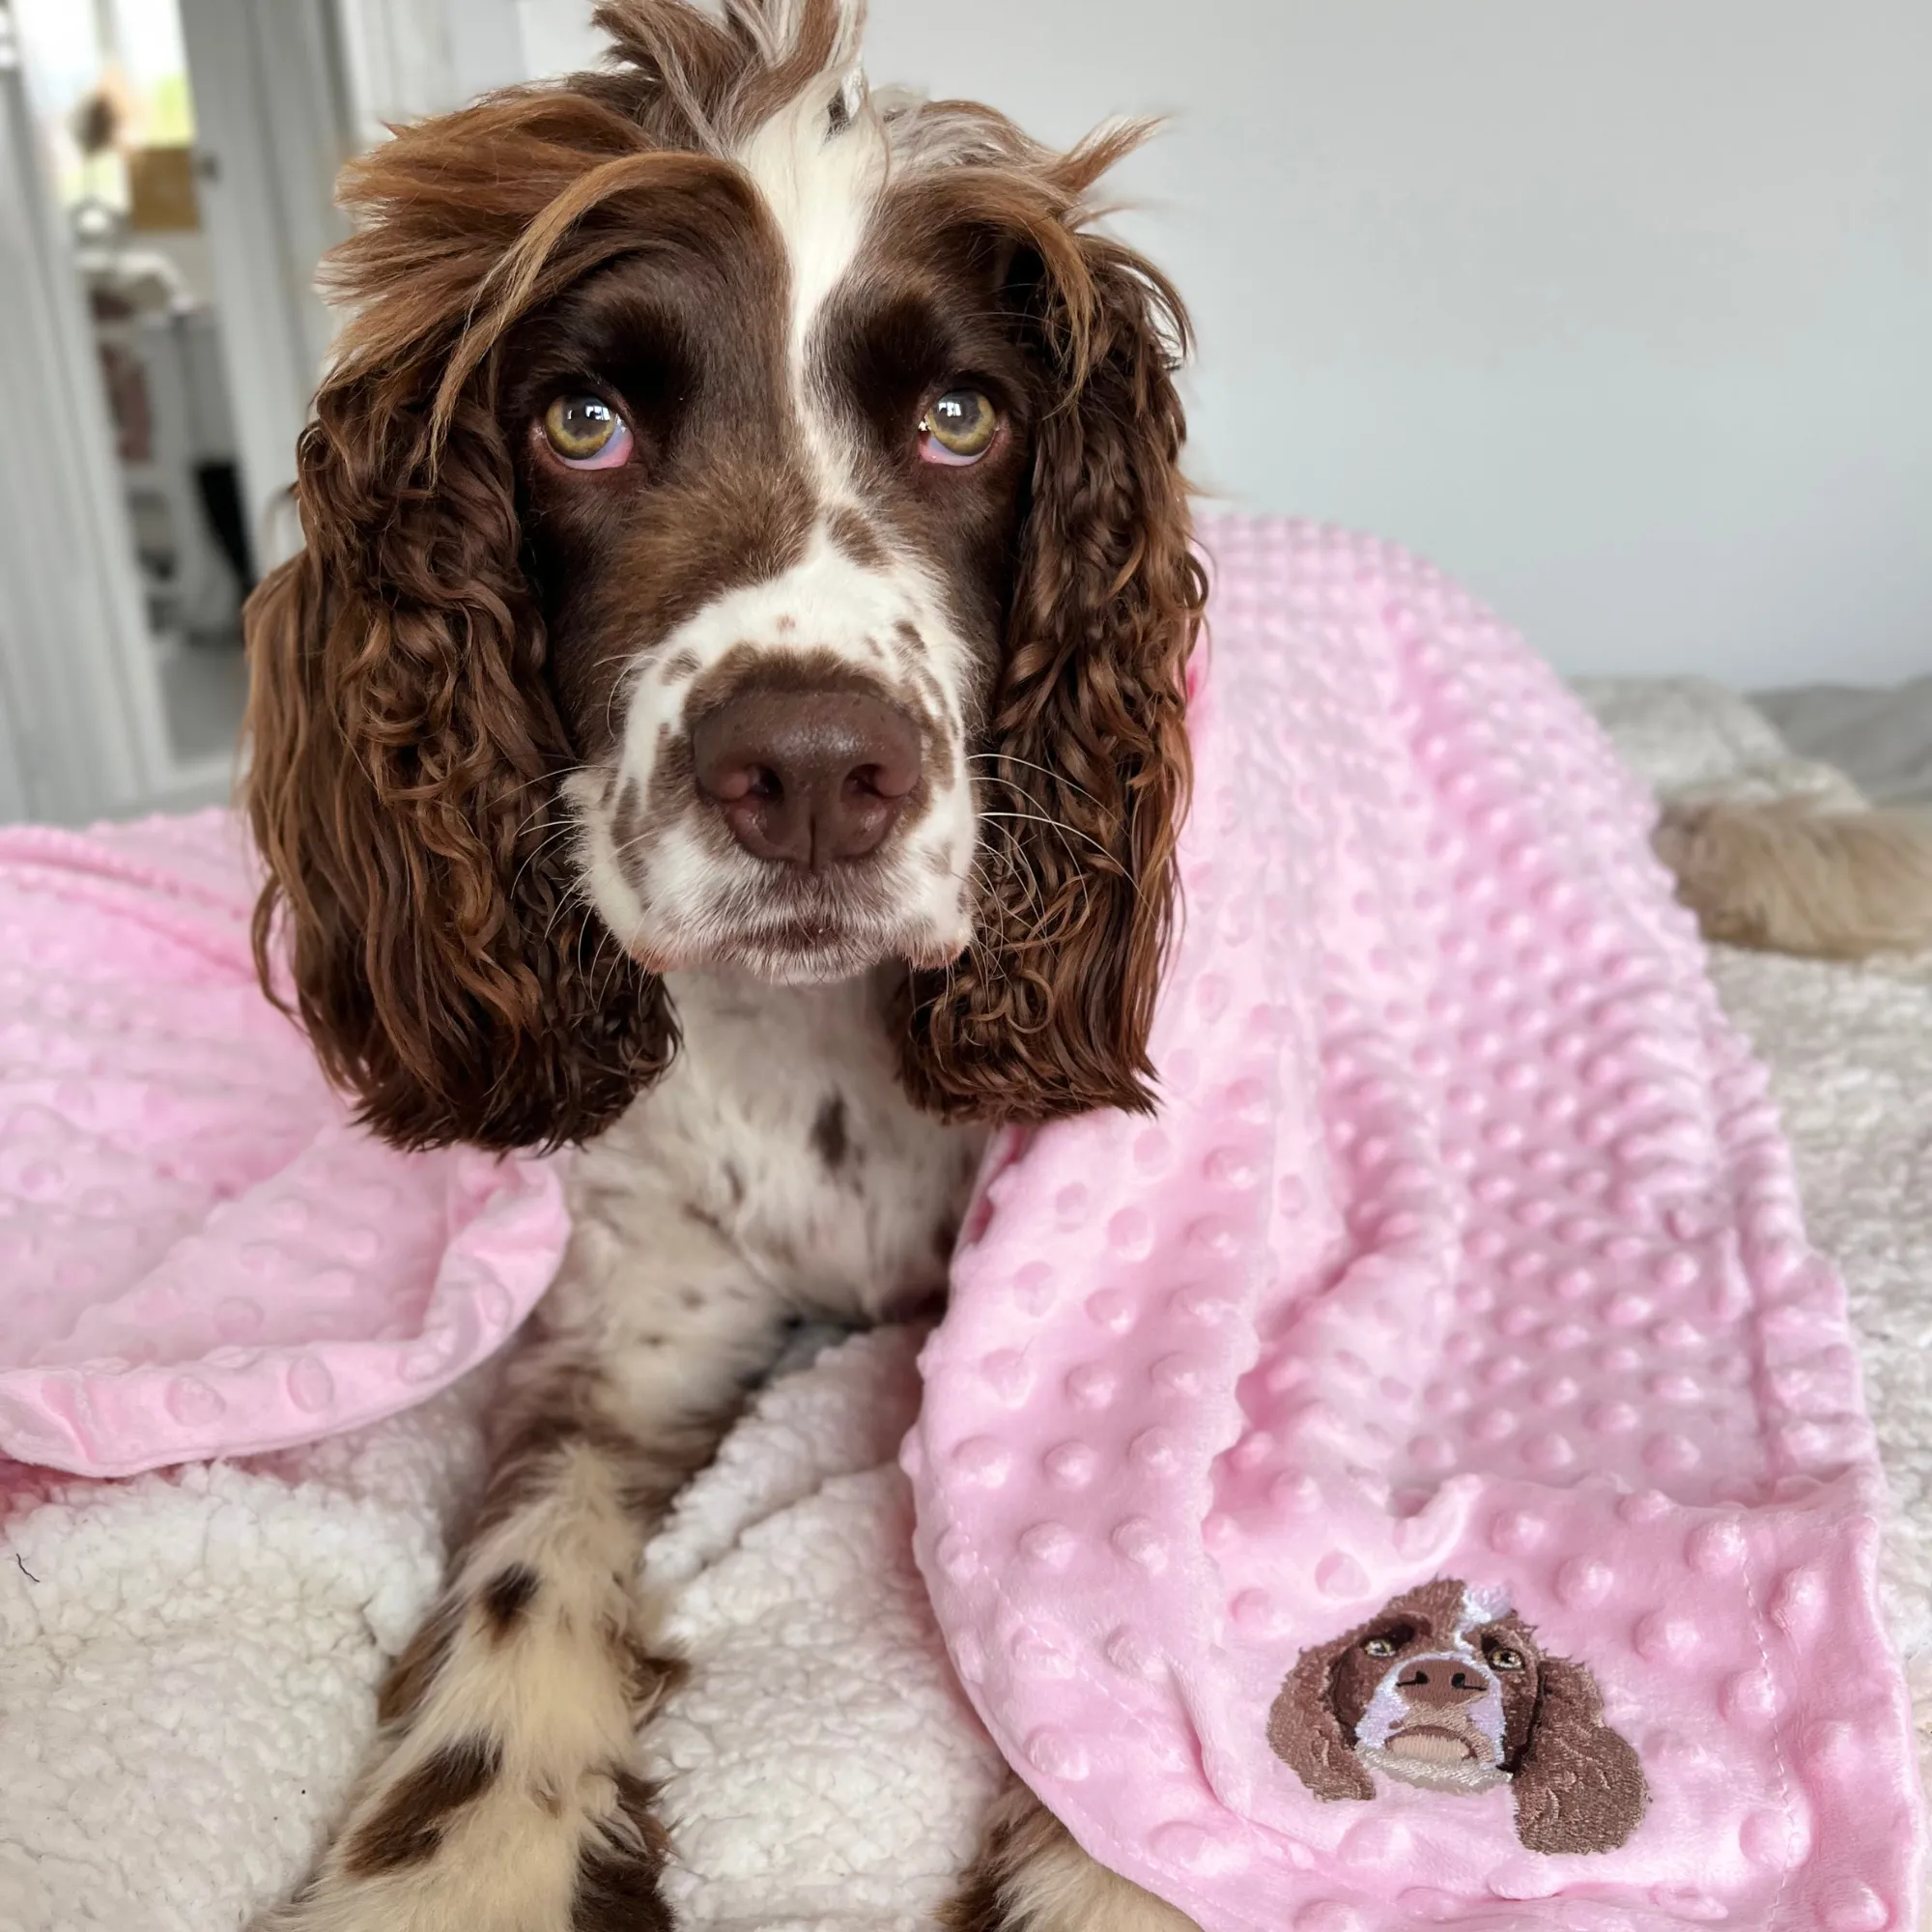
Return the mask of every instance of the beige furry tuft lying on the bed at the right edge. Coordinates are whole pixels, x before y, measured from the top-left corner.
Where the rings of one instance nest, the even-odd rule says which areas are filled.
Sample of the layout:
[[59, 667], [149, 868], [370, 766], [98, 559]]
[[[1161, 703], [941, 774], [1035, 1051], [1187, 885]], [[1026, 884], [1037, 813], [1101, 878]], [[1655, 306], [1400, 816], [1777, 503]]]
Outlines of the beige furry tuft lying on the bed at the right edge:
[[1706, 939], [1833, 960], [1932, 949], [1932, 817], [1667, 806], [1654, 844]]

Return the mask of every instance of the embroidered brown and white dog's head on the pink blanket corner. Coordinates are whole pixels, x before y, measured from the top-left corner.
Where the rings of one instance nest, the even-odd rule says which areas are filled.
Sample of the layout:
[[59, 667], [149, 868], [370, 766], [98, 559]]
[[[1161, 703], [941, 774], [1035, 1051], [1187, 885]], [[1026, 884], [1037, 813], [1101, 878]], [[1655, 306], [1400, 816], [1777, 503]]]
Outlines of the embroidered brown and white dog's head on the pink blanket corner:
[[1455, 1578], [1304, 1650], [1267, 1741], [1318, 1799], [1372, 1799], [1372, 1772], [1426, 1791], [1507, 1783], [1530, 1851], [1615, 1851], [1648, 1803], [1590, 1673], [1546, 1656], [1499, 1594]]

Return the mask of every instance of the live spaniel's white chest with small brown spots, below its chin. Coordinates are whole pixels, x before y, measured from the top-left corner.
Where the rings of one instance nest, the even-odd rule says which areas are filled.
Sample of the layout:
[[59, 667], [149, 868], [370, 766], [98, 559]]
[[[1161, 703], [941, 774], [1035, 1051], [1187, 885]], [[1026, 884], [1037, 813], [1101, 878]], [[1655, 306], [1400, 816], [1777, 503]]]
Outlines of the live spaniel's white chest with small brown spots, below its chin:
[[941, 1291], [983, 1134], [908, 1103], [889, 987], [690, 974], [670, 991], [678, 1061], [583, 1182], [715, 1223], [750, 1271], [808, 1304], [881, 1316]]

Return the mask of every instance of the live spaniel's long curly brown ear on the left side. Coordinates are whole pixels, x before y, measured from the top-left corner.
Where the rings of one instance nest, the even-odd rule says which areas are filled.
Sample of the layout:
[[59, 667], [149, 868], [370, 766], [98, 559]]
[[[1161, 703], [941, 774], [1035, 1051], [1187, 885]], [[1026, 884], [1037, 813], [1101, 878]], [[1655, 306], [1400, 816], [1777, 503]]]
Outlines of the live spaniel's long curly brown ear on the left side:
[[479, 286], [560, 185], [622, 145], [612, 120], [504, 99], [352, 170], [373, 218], [336, 278], [363, 307], [298, 450], [305, 549], [247, 607], [257, 964], [270, 993], [292, 985], [323, 1066], [400, 1146], [580, 1140], [674, 1045], [659, 981], [566, 869], [572, 759], [495, 369], [452, 377], [460, 344], [481, 340]]

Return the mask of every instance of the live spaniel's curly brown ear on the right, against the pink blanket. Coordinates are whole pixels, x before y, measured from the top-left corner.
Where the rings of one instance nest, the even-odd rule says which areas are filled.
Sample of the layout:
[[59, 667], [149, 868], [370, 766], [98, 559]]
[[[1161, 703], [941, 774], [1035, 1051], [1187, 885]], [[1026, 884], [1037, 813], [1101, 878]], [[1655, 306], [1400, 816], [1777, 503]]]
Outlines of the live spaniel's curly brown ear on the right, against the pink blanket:
[[[1151, 1105], [1148, 1030], [1192, 767], [1186, 661], [1206, 603], [1180, 473], [1173, 288], [1063, 238], [1022, 327], [1055, 402], [1005, 667], [976, 765], [976, 943], [914, 985], [908, 1086], [945, 1115], [1041, 1121]], [[1022, 276], [1024, 280], [1024, 276]]]

